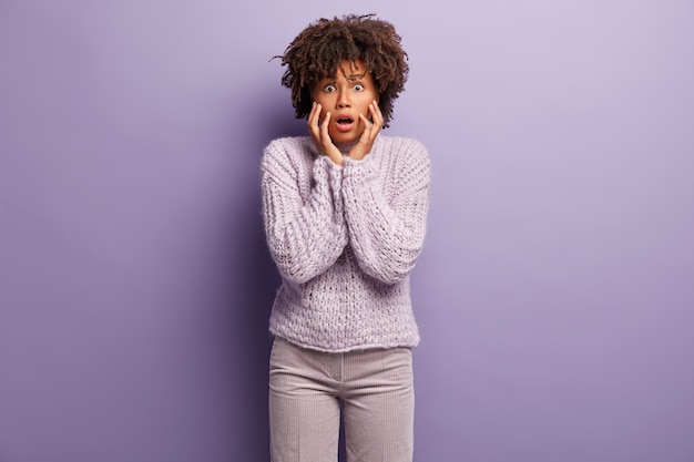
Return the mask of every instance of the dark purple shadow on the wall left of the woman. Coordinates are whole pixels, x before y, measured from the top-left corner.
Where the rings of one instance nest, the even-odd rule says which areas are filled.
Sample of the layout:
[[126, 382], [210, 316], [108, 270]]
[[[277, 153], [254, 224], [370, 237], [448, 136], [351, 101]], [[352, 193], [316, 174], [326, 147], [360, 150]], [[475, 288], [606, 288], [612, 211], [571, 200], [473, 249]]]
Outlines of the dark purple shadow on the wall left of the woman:
[[[268, 114], [275, 114], [275, 119]], [[231, 217], [231, 236], [234, 236], [229, 248], [228, 275], [236, 280], [231, 295], [231, 320], [225, 336], [228, 338], [228, 357], [231, 362], [229, 394], [232, 394], [233, 413], [231, 440], [235, 441], [232, 451], [233, 460], [264, 461], [269, 460], [269, 422], [267, 409], [268, 361], [272, 348], [272, 336], [267, 330], [269, 312], [275, 294], [280, 284], [279, 274], [269, 255], [262, 215], [259, 165], [263, 148], [271, 140], [280, 136], [296, 136], [306, 133], [305, 122], [297, 121], [293, 113], [277, 107], [259, 110], [249, 120], [262, 120], [253, 126], [263, 130], [248, 131], [251, 140], [243, 143], [253, 153], [251, 160], [237, 165], [243, 172], [235, 176], [243, 179], [244, 187], [237, 198], [235, 211]], [[235, 164], [236, 165], [236, 164]], [[249, 178], [255, 178], [254, 181]], [[236, 404], [234, 404], [236, 402]]]

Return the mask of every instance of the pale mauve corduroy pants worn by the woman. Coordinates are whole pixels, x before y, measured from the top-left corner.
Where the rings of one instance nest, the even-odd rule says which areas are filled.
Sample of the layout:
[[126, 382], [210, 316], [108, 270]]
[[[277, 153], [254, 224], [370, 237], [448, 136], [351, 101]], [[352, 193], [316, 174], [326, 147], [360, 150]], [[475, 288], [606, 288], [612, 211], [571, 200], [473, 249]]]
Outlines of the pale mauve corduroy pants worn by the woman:
[[273, 462], [411, 462], [415, 389], [409, 348], [328, 353], [276, 337], [269, 365]]

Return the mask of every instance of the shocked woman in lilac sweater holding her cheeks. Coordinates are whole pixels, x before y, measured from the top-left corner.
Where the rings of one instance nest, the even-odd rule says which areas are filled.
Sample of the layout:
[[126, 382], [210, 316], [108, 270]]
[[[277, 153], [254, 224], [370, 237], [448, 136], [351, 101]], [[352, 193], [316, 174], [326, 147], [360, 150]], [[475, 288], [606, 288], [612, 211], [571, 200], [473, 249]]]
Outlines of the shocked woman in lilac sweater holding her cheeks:
[[[409, 275], [426, 229], [425, 146], [380, 134], [407, 80], [395, 28], [374, 16], [320, 19], [282, 57], [309, 136], [265, 148], [262, 187], [282, 275], [269, 329], [274, 462], [410, 462]], [[340, 405], [341, 404], [341, 405]]]

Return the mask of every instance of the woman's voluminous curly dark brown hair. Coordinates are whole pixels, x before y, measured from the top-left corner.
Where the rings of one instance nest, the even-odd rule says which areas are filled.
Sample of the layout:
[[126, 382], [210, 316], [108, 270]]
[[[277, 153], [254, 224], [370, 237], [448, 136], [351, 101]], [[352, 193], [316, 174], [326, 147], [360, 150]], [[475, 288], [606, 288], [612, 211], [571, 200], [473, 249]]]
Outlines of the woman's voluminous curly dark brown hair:
[[304, 29], [287, 47], [282, 59], [286, 65], [282, 84], [292, 89], [296, 119], [310, 112], [312, 90], [323, 79], [335, 75], [347, 60], [360, 60], [370, 72], [378, 93], [384, 127], [392, 119], [392, 103], [405, 90], [409, 66], [395, 27], [375, 14], [347, 14], [328, 20], [322, 18]]

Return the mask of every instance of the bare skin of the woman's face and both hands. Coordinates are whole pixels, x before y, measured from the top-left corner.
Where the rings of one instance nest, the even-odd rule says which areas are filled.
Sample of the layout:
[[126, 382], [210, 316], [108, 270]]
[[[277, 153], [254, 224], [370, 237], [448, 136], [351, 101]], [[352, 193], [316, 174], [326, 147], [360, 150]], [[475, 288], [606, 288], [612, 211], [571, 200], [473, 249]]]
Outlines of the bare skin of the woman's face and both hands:
[[[371, 152], [374, 140], [384, 126], [384, 116], [378, 107], [374, 79], [361, 61], [350, 66], [349, 61], [344, 60], [334, 76], [318, 82], [312, 97], [308, 132], [320, 154], [343, 165], [343, 154], [336, 143], [357, 141], [347, 154], [356, 161]], [[351, 123], [340, 123], [343, 119]]]

